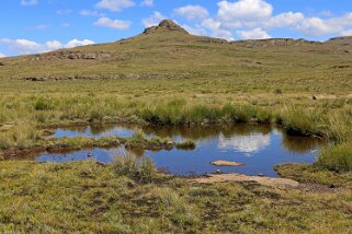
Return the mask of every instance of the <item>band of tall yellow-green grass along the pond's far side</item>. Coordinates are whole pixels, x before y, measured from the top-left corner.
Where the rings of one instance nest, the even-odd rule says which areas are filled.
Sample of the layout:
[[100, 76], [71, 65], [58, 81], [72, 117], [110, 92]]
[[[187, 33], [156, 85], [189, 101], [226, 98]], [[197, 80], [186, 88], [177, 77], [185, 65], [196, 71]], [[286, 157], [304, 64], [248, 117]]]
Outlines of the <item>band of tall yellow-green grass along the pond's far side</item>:
[[[82, 90], [90, 86], [86, 83], [79, 84], [79, 89]], [[14, 97], [11, 94], [13, 92], [2, 94], [0, 148], [23, 149], [41, 144], [45, 131], [41, 130], [39, 126], [116, 121], [159, 126], [214, 122], [276, 124], [291, 134], [327, 138], [337, 144], [352, 142], [351, 97], [311, 100], [307, 96], [292, 100], [292, 94], [280, 94], [279, 97], [277, 94], [265, 94], [259, 103], [256, 101], [258, 93], [248, 95], [247, 102], [235, 100], [232, 95], [224, 93], [201, 97], [164, 93], [164, 98], [160, 101], [150, 93], [140, 96], [135, 94], [134, 97], [126, 91], [118, 95], [99, 92], [71, 95], [66, 93], [66, 89], [59, 87], [60, 92], [35, 96], [24, 93]], [[344, 151], [344, 161], [348, 162], [343, 164], [350, 165], [350, 148], [345, 148]], [[329, 155], [339, 157], [334, 152]], [[327, 168], [345, 167], [340, 163], [340, 160], [330, 160], [325, 161], [322, 165]]]

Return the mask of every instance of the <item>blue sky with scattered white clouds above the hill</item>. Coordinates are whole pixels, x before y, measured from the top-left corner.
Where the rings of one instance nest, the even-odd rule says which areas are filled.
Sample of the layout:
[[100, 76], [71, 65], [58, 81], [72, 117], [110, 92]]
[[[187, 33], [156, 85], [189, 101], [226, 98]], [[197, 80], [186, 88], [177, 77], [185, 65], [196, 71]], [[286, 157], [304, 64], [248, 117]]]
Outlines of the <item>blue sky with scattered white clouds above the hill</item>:
[[352, 36], [352, 0], [1, 0], [0, 57], [115, 42], [164, 19], [227, 40], [326, 40]]

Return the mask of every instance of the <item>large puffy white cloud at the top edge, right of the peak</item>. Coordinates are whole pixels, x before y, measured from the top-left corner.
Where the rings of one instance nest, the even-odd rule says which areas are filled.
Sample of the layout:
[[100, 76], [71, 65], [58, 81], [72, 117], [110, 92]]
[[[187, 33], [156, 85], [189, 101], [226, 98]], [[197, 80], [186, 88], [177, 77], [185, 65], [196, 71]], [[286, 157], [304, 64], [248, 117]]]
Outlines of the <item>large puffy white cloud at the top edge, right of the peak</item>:
[[228, 28], [256, 26], [271, 17], [273, 7], [263, 0], [220, 1], [218, 17]]

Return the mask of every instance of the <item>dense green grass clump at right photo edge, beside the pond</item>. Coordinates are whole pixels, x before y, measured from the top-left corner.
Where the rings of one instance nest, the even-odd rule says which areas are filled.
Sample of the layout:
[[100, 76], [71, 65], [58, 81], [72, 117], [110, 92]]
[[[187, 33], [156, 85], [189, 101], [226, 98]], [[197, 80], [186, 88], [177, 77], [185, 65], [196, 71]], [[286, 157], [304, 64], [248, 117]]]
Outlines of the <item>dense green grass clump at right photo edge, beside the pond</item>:
[[342, 143], [323, 150], [318, 165], [336, 172], [352, 172], [352, 143]]

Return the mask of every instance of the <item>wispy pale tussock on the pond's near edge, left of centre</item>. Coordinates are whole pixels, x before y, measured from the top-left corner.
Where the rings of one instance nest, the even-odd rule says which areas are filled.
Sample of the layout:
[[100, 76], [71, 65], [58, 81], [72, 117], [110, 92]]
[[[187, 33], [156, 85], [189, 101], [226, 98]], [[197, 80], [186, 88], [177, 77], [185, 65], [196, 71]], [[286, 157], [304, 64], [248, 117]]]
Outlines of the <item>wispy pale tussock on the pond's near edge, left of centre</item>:
[[138, 160], [134, 154], [117, 155], [113, 168], [120, 176], [127, 176], [140, 183], [151, 183], [156, 177], [156, 165], [150, 157]]

